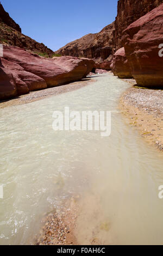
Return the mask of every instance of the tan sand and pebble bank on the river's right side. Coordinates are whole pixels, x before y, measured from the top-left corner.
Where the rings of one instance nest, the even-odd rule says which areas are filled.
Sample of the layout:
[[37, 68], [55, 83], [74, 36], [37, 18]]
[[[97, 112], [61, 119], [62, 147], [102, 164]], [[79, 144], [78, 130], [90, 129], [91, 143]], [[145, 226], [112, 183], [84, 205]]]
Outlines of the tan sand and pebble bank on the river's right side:
[[163, 151], [163, 90], [133, 86], [121, 97], [120, 108], [128, 123], [135, 126], [146, 141]]

